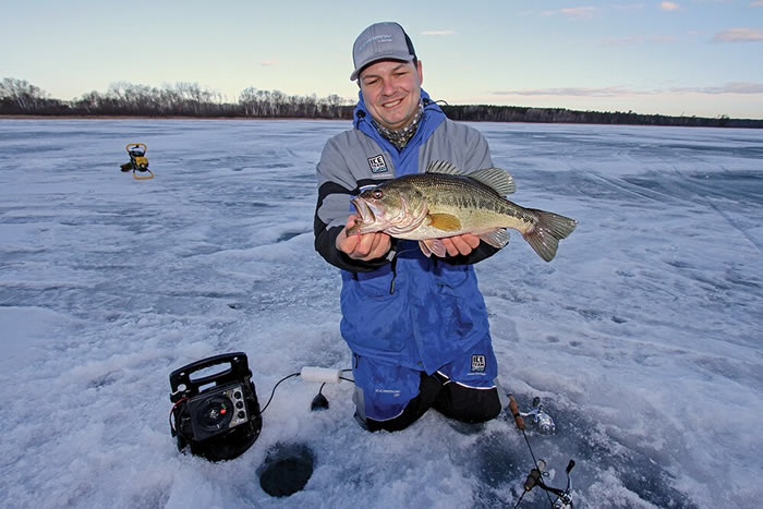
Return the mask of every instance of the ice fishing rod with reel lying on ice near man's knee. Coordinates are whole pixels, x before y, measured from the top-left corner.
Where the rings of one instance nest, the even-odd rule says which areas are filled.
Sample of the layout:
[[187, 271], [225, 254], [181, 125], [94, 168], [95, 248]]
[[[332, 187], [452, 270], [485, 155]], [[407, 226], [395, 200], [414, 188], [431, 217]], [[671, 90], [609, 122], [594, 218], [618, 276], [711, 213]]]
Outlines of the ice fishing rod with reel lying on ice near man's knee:
[[[522, 498], [524, 498], [524, 496], [528, 493], [530, 493], [530, 490], [532, 490], [532, 488], [534, 487], [538, 487], [546, 492], [546, 496], [548, 497], [548, 504], [550, 504], [550, 507], [553, 509], [572, 509], [572, 478], [570, 477], [570, 472], [574, 468], [574, 460], [570, 460], [570, 462], [567, 464], [567, 487], [565, 487], [565, 489], [555, 488], [544, 483], [543, 477], [547, 477], [549, 475], [548, 472], [544, 470], [546, 468], [546, 462], [542, 459], [535, 459], [535, 453], [533, 452], [532, 446], [530, 446], [530, 439], [528, 438], [528, 434], [524, 433], [524, 417], [533, 416], [535, 424], [538, 425], [540, 428], [545, 433], [549, 433], [554, 429], [554, 422], [550, 420], [548, 414], [543, 412], [543, 409], [540, 405], [540, 400], [537, 398], [535, 398], [535, 400], [533, 401], [533, 405], [535, 407], [535, 409], [532, 412], [523, 414], [519, 411], [519, 405], [517, 404], [517, 400], [514, 399], [514, 397], [512, 395], [509, 395], [509, 411], [511, 412], [511, 415], [514, 419], [514, 424], [517, 425], [517, 428], [519, 428], [519, 431], [522, 432], [524, 441], [525, 444], [528, 444], [528, 449], [530, 450], [530, 456], [533, 459], [533, 464], [535, 465], [530, 471], [530, 474], [528, 474], [528, 478], [524, 481], [524, 484], [522, 486], [524, 488], [524, 492], [522, 492], [522, 495], [517, 500], [514, 509], [517, 509], [520, 506], [520, 504], [522, 504]], [[556, 498], [552, 499], [552, 495], [556, 495]]]

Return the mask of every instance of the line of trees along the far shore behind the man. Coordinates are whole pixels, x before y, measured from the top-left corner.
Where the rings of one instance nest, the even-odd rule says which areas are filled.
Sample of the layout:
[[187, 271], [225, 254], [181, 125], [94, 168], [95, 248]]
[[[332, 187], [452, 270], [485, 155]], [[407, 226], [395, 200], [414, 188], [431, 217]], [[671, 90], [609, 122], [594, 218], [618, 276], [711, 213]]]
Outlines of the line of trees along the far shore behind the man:
[[[60, 100], [24, 80], [0, 82], [0, 114], [16, 116], [130, 116], [130, 117], [220, 117], [352, 119], [354, 100], [338, 95], [318, 98], [290, 96], [279, 90], [244, 89], [235, 102], [219, 92], [196, 83], [178, 83], [161, 88], [116, 83], [106, 93], [90, 92], [73, 100]], [[763, 128], [763, 120], [668, 117], [628, 112], [576, 111], [564, 108], [519, 106], [441, 105], [453, 120], [491, 122], [597, 123], [638, 125], [685, 125], [713, 128]]]

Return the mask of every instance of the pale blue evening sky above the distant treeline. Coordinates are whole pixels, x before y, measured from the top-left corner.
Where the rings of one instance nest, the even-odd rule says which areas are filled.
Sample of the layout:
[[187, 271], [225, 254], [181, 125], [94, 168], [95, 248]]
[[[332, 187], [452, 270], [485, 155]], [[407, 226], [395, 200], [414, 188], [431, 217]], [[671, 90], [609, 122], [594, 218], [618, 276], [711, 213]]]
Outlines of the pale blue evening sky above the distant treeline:
[[449, 104], [763, 119], [763, 0], [4, 0], [0, 77], [71, 99], [194, 82], [354, 98], [352, 43], [397, 21]]

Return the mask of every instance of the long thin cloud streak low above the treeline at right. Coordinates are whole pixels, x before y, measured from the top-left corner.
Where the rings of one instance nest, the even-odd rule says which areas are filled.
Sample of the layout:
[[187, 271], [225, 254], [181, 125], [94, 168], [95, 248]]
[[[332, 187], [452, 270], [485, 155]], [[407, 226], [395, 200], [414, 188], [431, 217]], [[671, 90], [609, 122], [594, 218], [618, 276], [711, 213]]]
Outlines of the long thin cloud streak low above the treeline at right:
[[498, 96], [564, 96], [564, 97], [617, 97], [617, 96], [652, 96], [652, 95], [683, 95], [683, 94], [763, 94], [763, 83], [732, 82], [723, 86], [707, 87], [673, 87], [667, 89], [643, 90], [625, 86], [608, 87], [559, 87], [559, 88], [525, 88], [521, 90], [500, 90], [492, 94]]

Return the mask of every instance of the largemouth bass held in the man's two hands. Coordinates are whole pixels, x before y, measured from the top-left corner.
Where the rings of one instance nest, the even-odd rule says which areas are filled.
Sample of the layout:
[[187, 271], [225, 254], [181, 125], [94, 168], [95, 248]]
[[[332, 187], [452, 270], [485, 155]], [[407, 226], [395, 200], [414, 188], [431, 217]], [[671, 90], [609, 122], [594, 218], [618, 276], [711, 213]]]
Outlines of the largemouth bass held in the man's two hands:
[[558, 214], [524, 208], [504, 196], [514, 192], [506, 170], [488, 168], [465, 174], [450, 162], [435, 161], [426, 173], [398, 177], [363, 191], [352, 199], [359, 220], [347, 234], [382, 231], [417, 240], [426, 256], [445, 256], [440, 239], [472, 233], [495, 247], [509, 242], [507, 228], [546, 262], [556, 256], [559, 240], [578, 222]]

